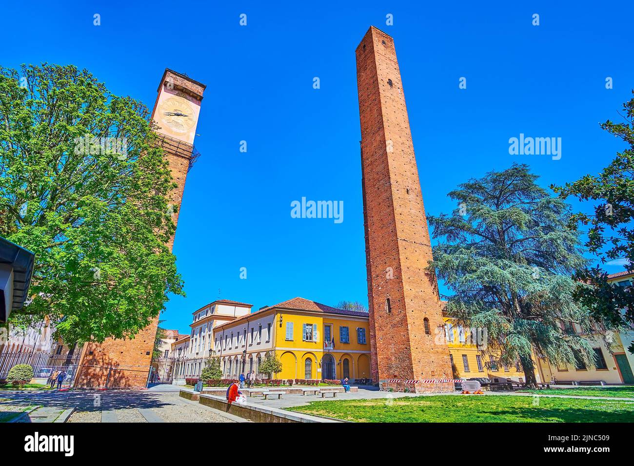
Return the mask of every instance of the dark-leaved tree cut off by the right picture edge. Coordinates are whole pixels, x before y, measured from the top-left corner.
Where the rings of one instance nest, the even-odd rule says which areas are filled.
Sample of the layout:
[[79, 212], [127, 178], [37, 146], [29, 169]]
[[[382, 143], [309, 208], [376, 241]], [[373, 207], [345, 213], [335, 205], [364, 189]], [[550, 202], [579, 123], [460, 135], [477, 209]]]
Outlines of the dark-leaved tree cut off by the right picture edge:
[[[634, 94], [634, 91], [632, 91]], [[588, 226], [586, 247], [602, 262], [622, 261], [628, 268], [634, 264], [634, 98], [623, 104], [624, 122], [607, 120], [601, 124], [609, 134], [622, 139], [625, 148], [616, 154], [600, 174], [586, 175], [565, 186], [552, 186], [560, 197], [595, 201], [592, 214], [578, 213], [571, 219], [573, 228]], [[576, 278], [590, 287], [579, 287], [574, 297], [588, 306], [597, 318], [613, 325], [634, 323], [634, 292], [607, 282], [602, 269], [584, 268]], [[621, 309], [625, 309], [624, 313]], [[634, 353], [634, 342], [630, 346]]]

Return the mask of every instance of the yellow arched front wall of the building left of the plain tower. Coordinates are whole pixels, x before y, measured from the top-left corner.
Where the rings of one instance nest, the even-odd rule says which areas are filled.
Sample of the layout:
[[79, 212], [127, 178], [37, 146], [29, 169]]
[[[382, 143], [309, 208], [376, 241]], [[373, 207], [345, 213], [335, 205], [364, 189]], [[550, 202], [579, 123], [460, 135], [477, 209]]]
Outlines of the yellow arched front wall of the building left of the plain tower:
[[[282, 323], [280, 325], [280, 316]], [[292, 339], [287, 340], [287, 323], [293, 323]], [[304, 324], [316, 325], [316, 341], [303, 339]], [[370, 329], [368, 319], [347, 318], [347, 316], [316, 315], [301, 311], [278, 311], [275, 316], [275, 354], [282, 363], [278, 379], [306, 379], [306, 360], [310, 359], [310, 378], [324, 379], [334, 376], [344, 377], [347, 365], [350, 379], [370, 378]], [[325, 326], [331, 327], [333, 350], [324, 351]], [[348, 327], [349, 343], [340, 341], [339, 327]], [[365, 328], [365, 344], [357, 340], [357, 328]], [[334, 373], [327, 377], [321, 361], [326, 354], [332, 355]], [[329, 358], [330, 356], [326, 356]]]

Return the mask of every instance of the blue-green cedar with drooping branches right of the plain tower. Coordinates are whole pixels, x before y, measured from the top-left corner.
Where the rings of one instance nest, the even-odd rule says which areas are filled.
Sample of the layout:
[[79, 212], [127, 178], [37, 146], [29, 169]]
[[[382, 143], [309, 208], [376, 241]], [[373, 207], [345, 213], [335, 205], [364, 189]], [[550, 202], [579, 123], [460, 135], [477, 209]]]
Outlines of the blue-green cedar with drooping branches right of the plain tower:
[[[527, 165], [489, 172], [451, 191], [451, 215], [429, 217], [434, 247], [430, 269], [453, 291], [446, 312], [467, 328], [486, 329], [484, 353], [499, 365], [521, 362], [535, 384], [532, 355], [593, 365], [588, 310], [573, 299], [574, 270], [585, 266], [570, 208], [535, 183]], [[566, 328], [562, 328], [562, 324]], [[499, 358], [498, 358], [499, 354]]]

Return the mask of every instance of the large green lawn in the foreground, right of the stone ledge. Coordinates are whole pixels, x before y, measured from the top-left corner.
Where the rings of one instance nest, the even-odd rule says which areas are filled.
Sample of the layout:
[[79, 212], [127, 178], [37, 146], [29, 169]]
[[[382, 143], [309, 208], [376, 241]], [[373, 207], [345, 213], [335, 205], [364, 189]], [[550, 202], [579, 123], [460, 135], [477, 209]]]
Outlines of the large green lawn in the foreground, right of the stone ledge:
[[634, 422], [634, 401], [510, 395], [313, 401], [287, 409], [355, 422]]

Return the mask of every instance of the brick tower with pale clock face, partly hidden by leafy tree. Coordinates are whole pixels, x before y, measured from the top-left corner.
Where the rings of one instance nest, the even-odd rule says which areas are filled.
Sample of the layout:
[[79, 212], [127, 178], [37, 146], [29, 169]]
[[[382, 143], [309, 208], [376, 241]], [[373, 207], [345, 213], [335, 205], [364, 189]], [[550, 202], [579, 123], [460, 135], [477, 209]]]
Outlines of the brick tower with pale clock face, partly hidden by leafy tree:
[[[193, 141], [200, 114], [200, 103], [205, 85], [189, 77], [165, 69], [159, 84], [152, 119], [159, 126], [159, 145], [169, 162], [174, 182], [169, 193], [171, 205], [180, 207], [187, 172], [193, 162]], [[178, 210], [172, 221], [178, 224]], [[174, 238], [167, 244], [172, 250]], [[101, 344], [87, 343], [84, 347], [75, 386], [138, 389], [146, 387], [152, 349], [159, 325], [155, 318], [134, 339], [107, 339]]]

